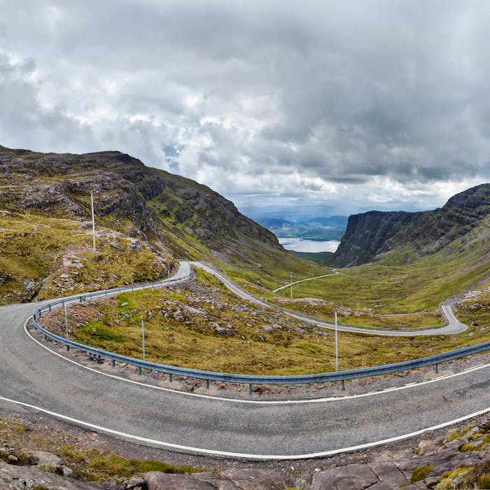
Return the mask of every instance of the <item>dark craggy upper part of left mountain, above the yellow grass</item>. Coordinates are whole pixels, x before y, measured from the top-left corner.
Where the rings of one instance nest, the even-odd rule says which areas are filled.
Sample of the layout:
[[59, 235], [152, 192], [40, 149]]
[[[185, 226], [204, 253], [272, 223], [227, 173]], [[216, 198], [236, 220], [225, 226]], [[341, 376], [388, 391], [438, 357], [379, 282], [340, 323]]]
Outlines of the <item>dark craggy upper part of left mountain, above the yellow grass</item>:
[[[147, 239], [181, 228], [223, 251], [223, 239], [258, 240], [282, 251], [276, 237], [213, 190], [151, 169], [118, 151], [73, 155], [0, 146], [0, 209], [90, 218], [90, 191], [99, 218], [129, 219]], [[182, 225], [179, 227], [178, 225]], [[236, 243], [240, 241], [240, 244]], [[249, 245], [251, 246], [251, 245]]]

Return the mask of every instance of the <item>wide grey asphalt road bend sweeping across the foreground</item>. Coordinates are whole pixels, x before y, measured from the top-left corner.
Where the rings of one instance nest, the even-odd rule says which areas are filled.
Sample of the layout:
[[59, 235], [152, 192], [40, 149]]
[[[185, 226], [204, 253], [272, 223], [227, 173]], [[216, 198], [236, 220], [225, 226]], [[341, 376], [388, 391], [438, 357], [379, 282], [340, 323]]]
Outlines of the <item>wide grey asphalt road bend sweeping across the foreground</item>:
[[490, 411], [490, 365], [377, 393], [304, 401], [225, 400], [149, 386], [144, 375], [123, 379], [37, 342], [24, 328], [36, 307], [0, 309], [0, 406], [48, 412], [144, 444], [237, 458], [308, 458]]

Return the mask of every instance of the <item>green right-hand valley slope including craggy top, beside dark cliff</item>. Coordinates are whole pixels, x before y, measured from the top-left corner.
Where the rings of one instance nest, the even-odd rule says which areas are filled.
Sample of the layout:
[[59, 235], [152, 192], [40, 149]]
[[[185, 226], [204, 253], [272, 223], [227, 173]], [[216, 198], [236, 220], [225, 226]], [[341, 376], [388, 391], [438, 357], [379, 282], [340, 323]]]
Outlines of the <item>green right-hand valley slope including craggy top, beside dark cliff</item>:
[[298, 284], [295, 294], [397, 314], [435, 310], [442, 300], [477, 287], [490, 277], [490, 186], [458, 195], [444, 208], [418, 214], [418, 225], [400, 225], [390, 249], [374, 262]]

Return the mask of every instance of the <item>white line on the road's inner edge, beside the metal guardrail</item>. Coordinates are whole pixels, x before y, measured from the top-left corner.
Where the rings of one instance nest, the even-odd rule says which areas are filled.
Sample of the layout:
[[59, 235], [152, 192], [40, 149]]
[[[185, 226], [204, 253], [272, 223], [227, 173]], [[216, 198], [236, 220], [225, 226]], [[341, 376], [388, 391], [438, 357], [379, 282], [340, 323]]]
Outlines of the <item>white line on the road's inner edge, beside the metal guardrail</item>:
[[388, 393], [390, 391], [398, 391], [398, 390], [404, 390], [407, 388], [413, 388], [414, 386], [421, 386], [423, 384], [430, 384], [430, 383], [435, 383], [437, 381], [443, 381], [444, 379], [449, 379], [452, 377], [456, 376], [461, 376], [461, 374], [467, 374], [468, 372], [473, 372], [477, 371], [480, 369], [484, 369], [484, 367], [490, 367], [489, 364], [480, 364], [474, 367], [469, 367], [466, 370], [460, 371], [460, 372], [454, 372], [451, 374], [443, 374], [442, 376], [436, 377], [434, 379], [426, 379], [425, 381], [420, 381], [419, 383], [414, 383], [414, 384], [407, 384], [405, 386], [393, 386], [392, 388], [384, 388], [379, 391], [370, 391], [369, 393], [359, 393], [357, 395], [345, 395], [345, 396], [331, 396], [331, 397], [326, 397], [326, 398], [311, 398], [308, 400], [240, 400], [239, 398], [224, 398], [224, 397], [219, 397], [219, 396], [213, 396], [213, 395], [202, 395], [201, 393], [188, 393], [187, 391], [179, 391], [179, 390], [174, 390], [172, 388], [164, 388], [163, 386], [154, 386], [153, 384], [148, 384], [148, 383], [142, 383], [141, 381], [134, 381], [134, 379], [127, 379], [123, 378], [120, 376], [116, 376], [116, 374], [109, 374], [109, 372], [103, 372], [97, 369], [94, 369], [93, 367], [85, 366], [83, 364], [77, 363], [76, 360], [69, 359], [65, 356], [62, 356], [62, 354], [53, 351], [50, 349], [48, 346], [43, 344], [42, 342], [39, 342], [38, 339], [35, 339], [27, 330], [27, 322], [32, 318], [32, 316], [29, 316], [27, 320], [24, 322], [24, 331], [27, 333], [27, 335], [36, 342], [36, 344], [40, 345], [43, 347], [43, 349], [46, 349], [48, 352], [54, 354], [55, 356], [58, 356], [64, 360], [66, 360], [69, 363], [72, 363], [74, 365], [77, 365], [79, 367], [83, 367], [83, 369], [96, 372], [97, 374], [102, 374], [104, 376], [113, 378], [113, 379], [118, 379], [120, 381], [125, 381], [127, 383], [132, 383], [132, 384], [138, 384], [139, 386], [147, 386], [148, 388], [153, 388], [155, 390], [161, 390], [161, 391], [168, 391], [170, 393], [175, 393], [176, 395], [186, 395], [186, 396], [194, 396], [196, 398], [208, 398], [210, 400], [218, 400], [218, 401], [225, 401], [225, 402], [232, 402], [232, 403], [251, 403], [255, 405], [298, 405], [301, 403], [323, 403], [323, 402], [335, 402], [339, 400], [351, 400], [352, 398], [364, 398], [365, 396], [372, 396], [372, 395], [382, 395], [384, 393]]

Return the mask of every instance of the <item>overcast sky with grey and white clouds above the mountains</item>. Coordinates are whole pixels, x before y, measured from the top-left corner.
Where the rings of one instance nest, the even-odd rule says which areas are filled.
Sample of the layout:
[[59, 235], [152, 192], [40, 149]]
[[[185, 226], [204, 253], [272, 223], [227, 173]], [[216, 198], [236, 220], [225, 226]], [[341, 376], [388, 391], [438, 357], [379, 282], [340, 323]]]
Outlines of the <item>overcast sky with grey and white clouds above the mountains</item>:
[[490, 181], [490, 2], [0, 0], [0, 144], [119, 150], [239, 208]]

